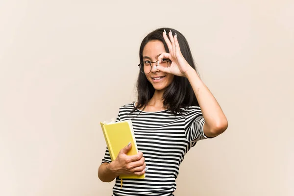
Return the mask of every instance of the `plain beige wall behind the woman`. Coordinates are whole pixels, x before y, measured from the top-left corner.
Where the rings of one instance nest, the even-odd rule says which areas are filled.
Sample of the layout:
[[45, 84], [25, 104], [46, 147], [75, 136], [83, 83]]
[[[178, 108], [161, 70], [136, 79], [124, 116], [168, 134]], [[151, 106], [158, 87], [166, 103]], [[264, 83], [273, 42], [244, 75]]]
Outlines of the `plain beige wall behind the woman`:
[[294, 1], [0, 1], [0, 195], [110, 196], [99, 121], [135, 100], [142, 39], [182, 32], [229, 128], [176, 196], [294, 195]]

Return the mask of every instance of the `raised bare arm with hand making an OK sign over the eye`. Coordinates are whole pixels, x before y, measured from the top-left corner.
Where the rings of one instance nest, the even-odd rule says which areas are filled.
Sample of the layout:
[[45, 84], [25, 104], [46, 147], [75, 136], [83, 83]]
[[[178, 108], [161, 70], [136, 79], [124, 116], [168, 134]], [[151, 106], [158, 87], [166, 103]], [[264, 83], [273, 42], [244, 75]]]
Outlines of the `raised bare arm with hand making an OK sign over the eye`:
[[156, 68], [161, 72], [172, 73], [174, 75], [188, 78], [205, 120], [203, 125], [204, 134], [208, 137], [215, 137], [221, 134], [228, 126], [227, 119], [221, 110], [221, 106], [199, 78], [196, 71], [183, 57], [176, 34], [172, 36], [172, 31], [170, 31], [169, 40], [166, 32], [164, 31], [163, 37], [168, 45], [170, 53], [162, 53], [158, 57], [158, 63], [161, 63], [161, 59], [168, 58], [172, 61], [172, 64], [168, 68], [160, 66]]

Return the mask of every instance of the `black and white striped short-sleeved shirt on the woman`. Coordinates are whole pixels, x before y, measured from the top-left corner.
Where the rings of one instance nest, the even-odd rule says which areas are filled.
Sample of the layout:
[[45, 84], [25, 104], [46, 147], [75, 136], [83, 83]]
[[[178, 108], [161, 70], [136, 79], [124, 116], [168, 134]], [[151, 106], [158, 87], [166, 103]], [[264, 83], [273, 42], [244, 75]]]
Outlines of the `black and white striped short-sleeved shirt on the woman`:
[[[173, 196], [184, 155], [198, 140], [207, 138], [203, 133], [202, 112], [199, 107], [191, 106], [182, 108], [182, 114], [177, 115], [169, 110], [139, 109], [130, 114], [134, 106], [135, 102], [122, 106], [116, 121], [132, 121], [137, 147], [143, 152], [148, 170], [145, 179], [123, 179], [122, 189], [117, 177], [113, 196]], [[102, 163], [110, 162], [106, 148]]]

